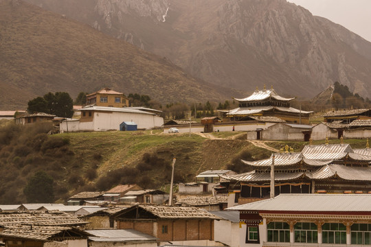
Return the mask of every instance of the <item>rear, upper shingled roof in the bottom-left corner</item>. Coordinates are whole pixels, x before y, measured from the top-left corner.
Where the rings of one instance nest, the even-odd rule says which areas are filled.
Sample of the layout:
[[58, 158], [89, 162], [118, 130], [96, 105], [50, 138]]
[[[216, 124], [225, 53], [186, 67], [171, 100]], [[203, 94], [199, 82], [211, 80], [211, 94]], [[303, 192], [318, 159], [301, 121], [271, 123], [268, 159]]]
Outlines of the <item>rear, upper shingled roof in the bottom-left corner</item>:
[[17, 211], [0, 213], [1, 226], [34, 225], [34, 226], [78, 226], [86, 224], [77, 217], [61, 211]]

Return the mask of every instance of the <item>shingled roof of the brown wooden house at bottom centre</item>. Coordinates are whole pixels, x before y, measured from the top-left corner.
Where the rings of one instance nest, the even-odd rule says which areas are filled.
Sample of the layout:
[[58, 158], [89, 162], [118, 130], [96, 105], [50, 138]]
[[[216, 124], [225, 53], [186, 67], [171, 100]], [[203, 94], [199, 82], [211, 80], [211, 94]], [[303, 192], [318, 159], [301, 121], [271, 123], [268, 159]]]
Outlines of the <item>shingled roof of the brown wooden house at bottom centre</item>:
[[[155, 204], [136, 204], [133, 207], [126, 209], [130, 211], [131, 209], [143, 209], [152, 213], [156, 217], [161, 219], [214, 219], [219, 218], [211, 213], [208, 213], [204, 209], [199, 209], [196, 207], [175, 207], [166, 205], [155, 205]], [[124, 213], [124, 211], [123, 211]], [[120, 213], [121, 215], [122, 213]]]

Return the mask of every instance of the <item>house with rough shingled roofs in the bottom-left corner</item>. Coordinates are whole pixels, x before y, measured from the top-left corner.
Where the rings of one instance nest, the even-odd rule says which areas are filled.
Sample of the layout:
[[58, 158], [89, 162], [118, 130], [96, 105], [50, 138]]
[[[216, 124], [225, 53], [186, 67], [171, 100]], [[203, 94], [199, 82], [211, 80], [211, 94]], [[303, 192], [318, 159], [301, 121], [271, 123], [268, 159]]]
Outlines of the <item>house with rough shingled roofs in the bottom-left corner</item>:
[[0, 239], [5, 246], [87, 246], [87, 222], [64, 212], [0, 213]]

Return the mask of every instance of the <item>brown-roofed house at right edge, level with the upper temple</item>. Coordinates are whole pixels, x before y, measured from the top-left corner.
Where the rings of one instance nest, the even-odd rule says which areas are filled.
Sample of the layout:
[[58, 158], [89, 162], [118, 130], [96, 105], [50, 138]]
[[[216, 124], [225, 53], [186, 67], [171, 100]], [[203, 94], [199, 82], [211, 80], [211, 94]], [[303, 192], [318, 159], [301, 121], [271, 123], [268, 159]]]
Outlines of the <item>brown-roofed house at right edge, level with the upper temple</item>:
[[371, 109], [333, 110], [324, 114], [327, 123], [341, 121], [342, 124], [350, 124], [356, 119], [371, 119]]

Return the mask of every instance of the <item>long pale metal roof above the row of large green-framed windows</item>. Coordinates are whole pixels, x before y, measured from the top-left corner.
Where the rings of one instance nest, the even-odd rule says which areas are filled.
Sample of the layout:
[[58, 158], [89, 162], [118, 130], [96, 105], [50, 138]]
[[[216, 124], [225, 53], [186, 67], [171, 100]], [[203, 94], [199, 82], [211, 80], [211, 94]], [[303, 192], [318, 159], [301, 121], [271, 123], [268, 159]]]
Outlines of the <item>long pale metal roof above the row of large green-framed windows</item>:
[[239, 211], [370, 212], [370, 194], [280, 194], [276, 198], [228, 208]]

